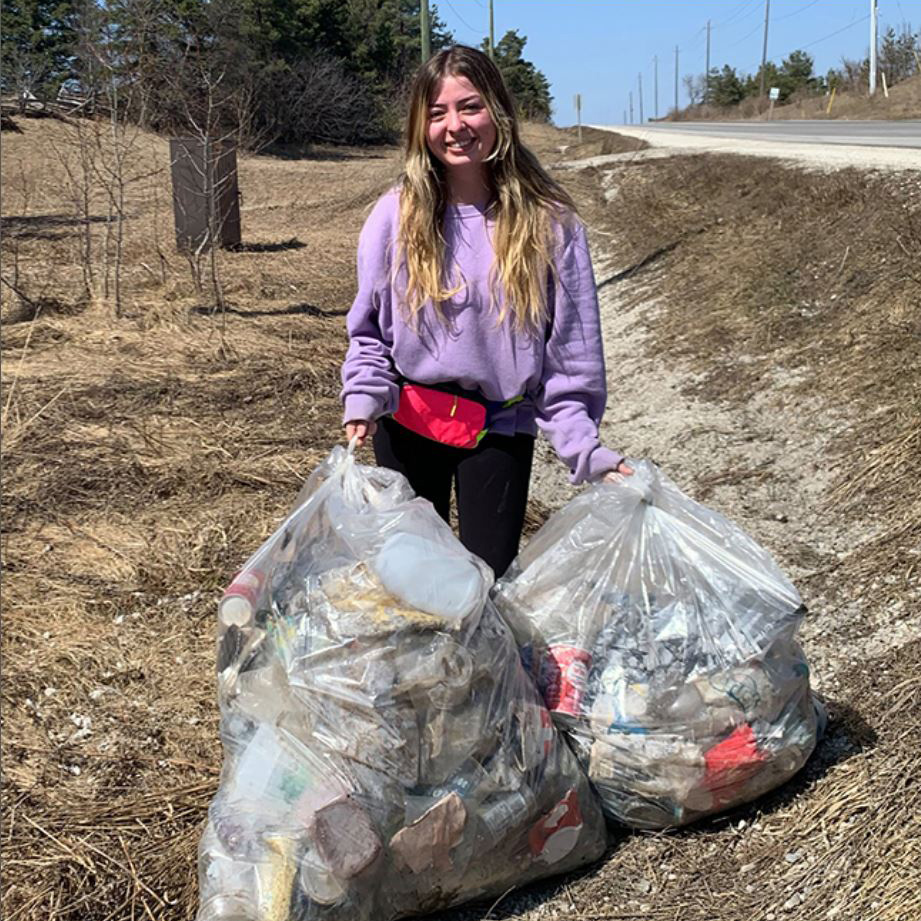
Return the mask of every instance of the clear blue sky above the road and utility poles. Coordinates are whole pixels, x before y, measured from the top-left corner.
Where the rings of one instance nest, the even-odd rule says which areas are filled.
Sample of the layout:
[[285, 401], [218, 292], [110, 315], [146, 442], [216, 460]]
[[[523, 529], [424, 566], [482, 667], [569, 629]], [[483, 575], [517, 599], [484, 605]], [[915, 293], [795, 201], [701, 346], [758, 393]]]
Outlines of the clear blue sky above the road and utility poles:
[[[478, 45], [489, 31], [488, 0], [430, 0], [458, 42]], [[761, 63], [765, 0], [494, 0], [496, 41], [509, 29], [527, 37], [525, 57], [543, 71], [554, 97], [554, 121], [575, 123], [573, 96], [582, 96], [585, 124], [620, 124], [633, 92], [639, 121], [654, 114], [658, 57], [659, 114], [674, 104], [675, 46], [679, 102], [682, 78], [702, 74], [706, 25], [710, 64], [754, 73]], [[878, 0], [879, 31], [909, 23], [921, 29], [921, 0]], [[825, 74], [842, 57], [863, 58], [870, 47], [870, 0], [770, 0], [768, 59], [776, 63], [802, 48]]]

